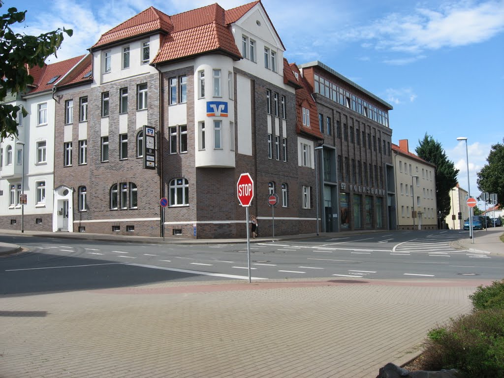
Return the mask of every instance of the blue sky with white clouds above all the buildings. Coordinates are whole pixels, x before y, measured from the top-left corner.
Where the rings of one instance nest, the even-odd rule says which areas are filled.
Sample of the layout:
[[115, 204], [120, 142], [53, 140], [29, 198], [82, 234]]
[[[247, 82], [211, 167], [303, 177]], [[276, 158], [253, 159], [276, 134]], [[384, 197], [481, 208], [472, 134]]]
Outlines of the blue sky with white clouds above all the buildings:
[[[73, 29], [58, 52], [63, 59], [86, 53], [100, 34], [150, 6], [172, 15], [212, 2], [6, 0], [3, 11], [28, 10], [20, 31], [29, 34]], [[218, 3], [230, 9], [248, 1]], [[418, 140], [431, 135], [461, 170], [466, 190], [466, 147], [456, 139], [467, 137], [471, 194], [479, 195], [476, 172], [490, 146], [504, 138], [503, 0], [263, 0], [263, 5], [290, 62], [320, 60], [391, 103], [393, 142], [408, 139], [414, 152]]]

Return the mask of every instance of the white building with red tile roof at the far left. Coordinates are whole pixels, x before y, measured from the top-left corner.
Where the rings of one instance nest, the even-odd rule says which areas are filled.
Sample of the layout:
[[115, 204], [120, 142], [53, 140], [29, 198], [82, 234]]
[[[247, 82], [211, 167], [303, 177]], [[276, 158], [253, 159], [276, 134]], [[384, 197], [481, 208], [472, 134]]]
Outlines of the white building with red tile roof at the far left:
[[18, 136], [0, 143], [0, 228], [52, 231], [53, 89], [83, 57], [30, 68], [33, 84], [6, 101], [22, 105], [28, 115], [19, 112]]

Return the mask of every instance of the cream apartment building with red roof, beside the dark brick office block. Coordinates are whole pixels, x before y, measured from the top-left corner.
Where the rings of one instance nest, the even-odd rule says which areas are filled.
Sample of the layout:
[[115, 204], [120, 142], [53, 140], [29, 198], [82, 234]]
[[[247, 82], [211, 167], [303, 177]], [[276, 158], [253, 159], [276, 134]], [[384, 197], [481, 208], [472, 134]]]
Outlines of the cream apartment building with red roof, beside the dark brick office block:
[[435, 165], [409, 151], [408, 140], [392, 144], [396, 177], [397, 228], [437, 229]]

